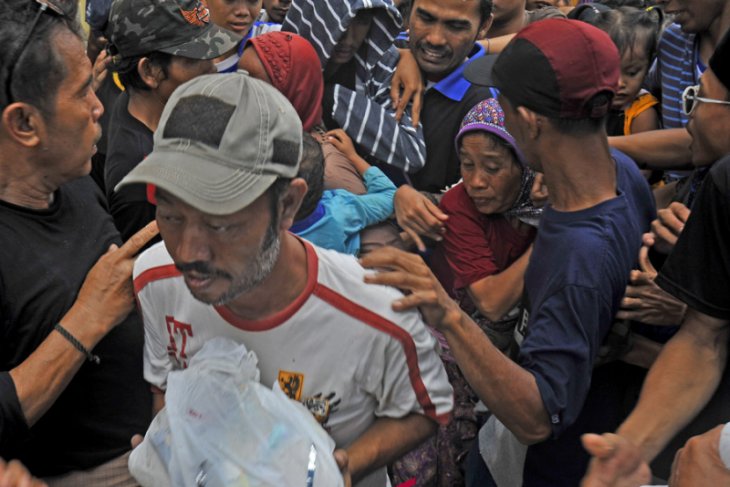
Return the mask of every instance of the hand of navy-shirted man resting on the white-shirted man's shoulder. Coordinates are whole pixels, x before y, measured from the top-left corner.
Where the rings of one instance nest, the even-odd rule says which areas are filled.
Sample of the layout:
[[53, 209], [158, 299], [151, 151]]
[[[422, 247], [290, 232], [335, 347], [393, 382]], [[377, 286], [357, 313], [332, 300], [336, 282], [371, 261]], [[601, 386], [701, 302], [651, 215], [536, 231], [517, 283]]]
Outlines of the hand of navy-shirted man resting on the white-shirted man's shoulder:
[[366, 254], [360, 264], [379, 269], [365, 276], [365, 282], [397, 287], [406, 294], [391, 304], [395, 311], [418, 308], [426, 323], [439, 329], [461, 319], [459, 305], [441, 287], [420, 255], [383, 247]]

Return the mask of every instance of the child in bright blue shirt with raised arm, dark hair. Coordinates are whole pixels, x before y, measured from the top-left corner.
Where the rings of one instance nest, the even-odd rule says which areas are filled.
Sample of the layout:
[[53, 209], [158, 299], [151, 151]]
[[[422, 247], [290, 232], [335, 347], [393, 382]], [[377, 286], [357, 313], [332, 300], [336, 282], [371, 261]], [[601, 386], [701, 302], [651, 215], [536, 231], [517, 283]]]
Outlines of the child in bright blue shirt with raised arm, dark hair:
[[332, 130], [326, 136], [362, 176], [367, 193], [355, 195], [344, 189], [325, 191], [322, 148], [314, 137], [305, 133], [298, 177], [307, 181], [309, 189], [290, 230], [320, 247], [357, 255], [360, 232], [393, 214], [396, 188], [380, 169], [357, 155], [352, 139], [344, 130]]

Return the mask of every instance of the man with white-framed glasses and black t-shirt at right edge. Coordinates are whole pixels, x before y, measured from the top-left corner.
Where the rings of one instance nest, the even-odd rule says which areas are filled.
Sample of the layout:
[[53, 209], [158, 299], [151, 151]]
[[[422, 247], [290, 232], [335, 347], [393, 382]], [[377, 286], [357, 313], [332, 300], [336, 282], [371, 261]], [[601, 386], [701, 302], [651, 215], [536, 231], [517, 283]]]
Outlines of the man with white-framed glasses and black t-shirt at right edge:
[[[635, 486], [649, 479], [646, 463], [710, 400], [728, 396], [720, 384], [730, 337], [730, 35], [709, 68], [682, 96], [692, 135], [692, 161], [715, 163], [656, 281], [688, 305], [679, 332], [647, 376], [641, 398], [617, 435], [584, 438], [596, 457], [584, 487]], [[660, 235], [644, 237], [657, 245]], [[717, 390], [716, 390], [717, 389]], [[725, 397], [727, 401], [727, 397]], [[727, 410], [727, 402], [725, 410]], [[702, 417], [702, 414], [700, 414]], [[707, 421], [706, 421], [707, 423]], [[712, 422], [712, 426], [717, 423]], [[710, 427], [705, 425], [703, 430]], [[670, 485], [730, 485], [730, 423], [690, 439], [677, 453]]]

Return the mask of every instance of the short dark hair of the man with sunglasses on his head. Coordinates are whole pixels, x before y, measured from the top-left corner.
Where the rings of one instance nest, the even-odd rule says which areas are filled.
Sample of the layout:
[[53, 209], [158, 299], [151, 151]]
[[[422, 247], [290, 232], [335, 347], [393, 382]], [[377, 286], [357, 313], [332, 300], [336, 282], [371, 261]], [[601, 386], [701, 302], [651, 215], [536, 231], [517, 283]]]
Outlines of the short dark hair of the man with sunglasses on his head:
[[[53, 42], [59, 29], [81, 38], [77, 19], [76, 0], [54, 0], [66, 15], [57, 14], [49, 8], [40, 14], [30, 38], [25, 45], [21, 42], [28, 34], [40, 5], [33, 0], [4, 0], [0, 9], [0, 109], [11, 101], [22, 101], [38, 108], [44, 115], [53, 115], [56, 94], [66, 78], [66, 66], [58, 55]], [[16, 59], [18, 50], [22, 54]], [[13, 62], [12, 79], [8, 80], [9, 64]], [[7, 100], [8, 83], [12, 100]]]

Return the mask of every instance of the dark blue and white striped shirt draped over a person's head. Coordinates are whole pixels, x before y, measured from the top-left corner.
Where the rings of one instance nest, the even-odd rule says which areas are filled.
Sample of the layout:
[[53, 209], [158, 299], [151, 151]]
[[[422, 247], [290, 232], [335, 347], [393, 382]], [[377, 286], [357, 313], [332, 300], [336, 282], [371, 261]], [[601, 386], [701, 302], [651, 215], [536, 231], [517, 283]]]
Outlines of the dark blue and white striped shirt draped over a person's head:
[[370, 31], [355, 54], [356, 89], [334, 85], [329, 116], [366, 156], [406, 172], [426, 162], [423, 129], [413, 127], [410, 107], [400, 123], [391, 106], [390, 83], [400, 59], [393, 40], [401, 17], [391, 0], [294, 0], [282, 30], [312, 43], [324, 68], [359, 10], [374, 9]]

